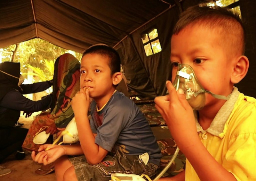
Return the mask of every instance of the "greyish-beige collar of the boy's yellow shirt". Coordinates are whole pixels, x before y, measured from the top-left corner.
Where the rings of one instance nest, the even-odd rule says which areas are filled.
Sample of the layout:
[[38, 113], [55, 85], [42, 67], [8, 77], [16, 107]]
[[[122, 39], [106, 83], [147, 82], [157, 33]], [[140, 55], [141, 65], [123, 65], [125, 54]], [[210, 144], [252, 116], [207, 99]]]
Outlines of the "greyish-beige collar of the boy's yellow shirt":
[[[231, 96], [229, 100], [227, 100], [221, 109], [219, 109], [218, 113], [216, 114], [215, 118], [213, 119], [213, 122], [211, 122], [210, 127], [207, 128], [206, 130], [203, 130], [203, 128], [200, 126], [198, 120], [197, 120], [197, 111], [194, 112], [195, 115], [195, 121], [196, 121], [196, 126], [197, 126], [197, 132], [209, 132], [214, 136], [219, 136], [220, 133], [223, 132], [224, 130], [224, 125], [226, 121], [229, 119], [229, 116], [234, 109], [235, 102], [237, 101], [239, 96], [239, 91], [236, 87], [233, 87], [233, 91], [231, 93]], [[225, 135], [222, 134], [220, 138], [222, 138]]]

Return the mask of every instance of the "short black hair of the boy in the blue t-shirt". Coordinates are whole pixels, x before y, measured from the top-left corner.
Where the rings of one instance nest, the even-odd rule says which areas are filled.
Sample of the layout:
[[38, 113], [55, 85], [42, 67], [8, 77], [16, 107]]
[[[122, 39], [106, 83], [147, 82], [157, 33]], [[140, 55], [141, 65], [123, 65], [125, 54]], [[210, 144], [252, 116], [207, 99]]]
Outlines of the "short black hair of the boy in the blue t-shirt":
[[104, 44], [93, 45], [83, 52], [82, 57], [89, 53], [95, 53], [95, 54], [102, 55], [103, 57], [107, 57], [109, 59], [109, 67], [111, 70], [111, 75], [113, 75], [115, 72], [120, 72], [120, 67], [121, 67], [120, 56], [118, 52], [113, 48]]

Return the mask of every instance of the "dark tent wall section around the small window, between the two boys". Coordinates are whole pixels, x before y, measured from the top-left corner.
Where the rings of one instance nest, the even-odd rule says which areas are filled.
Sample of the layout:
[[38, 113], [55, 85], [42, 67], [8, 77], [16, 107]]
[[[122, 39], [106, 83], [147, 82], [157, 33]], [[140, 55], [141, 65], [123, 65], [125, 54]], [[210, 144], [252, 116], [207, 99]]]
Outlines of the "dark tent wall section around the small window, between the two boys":
[[[122, 41], [117, 50], [125, 67], [128, 87], [142, 97], [154, 98], [166, 94], [166, 80], [171, 79], [170, 39], [183, 8], [199, 3], [199, 1], [182, 1], [171, 7], [162, 15], [139, 28], [131, 36]], [[142, 34], [150, 28], [157, 28], [162, 51], [146, 56], [142, 43]]]

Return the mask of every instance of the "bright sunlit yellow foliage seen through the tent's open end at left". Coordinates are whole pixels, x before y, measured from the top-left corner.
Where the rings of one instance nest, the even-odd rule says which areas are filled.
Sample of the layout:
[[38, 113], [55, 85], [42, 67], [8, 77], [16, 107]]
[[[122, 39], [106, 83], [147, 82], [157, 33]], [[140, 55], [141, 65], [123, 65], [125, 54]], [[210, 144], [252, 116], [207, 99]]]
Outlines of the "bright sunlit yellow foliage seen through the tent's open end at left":
[[78, 60], [81, 54], [60, 48], [40, 38], [10, 45], [0, 49], [0, 62], [12, 61], [21, 63], [21, 73], [27, 78], [28, 69], [32, 69], [37, 81], [50, 80], [53, 78], [54, 62], [64, 53], [73, 54]]

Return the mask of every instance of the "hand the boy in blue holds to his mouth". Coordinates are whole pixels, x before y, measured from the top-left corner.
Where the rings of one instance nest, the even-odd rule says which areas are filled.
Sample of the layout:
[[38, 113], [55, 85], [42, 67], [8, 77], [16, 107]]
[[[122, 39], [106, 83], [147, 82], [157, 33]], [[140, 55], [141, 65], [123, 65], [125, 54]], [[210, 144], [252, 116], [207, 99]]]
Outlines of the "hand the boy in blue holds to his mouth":
[[71, 106], [75, 117], [87, 117], [90, 106], [89, 88], [80, 89], [73, 97]]

